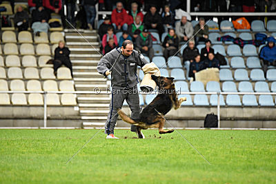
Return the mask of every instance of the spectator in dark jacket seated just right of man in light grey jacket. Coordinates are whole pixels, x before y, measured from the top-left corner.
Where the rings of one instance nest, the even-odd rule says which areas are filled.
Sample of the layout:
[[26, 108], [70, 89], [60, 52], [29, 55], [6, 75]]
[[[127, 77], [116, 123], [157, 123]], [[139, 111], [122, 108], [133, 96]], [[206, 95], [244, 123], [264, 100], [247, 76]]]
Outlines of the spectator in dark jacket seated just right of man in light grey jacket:
[[[197, 33], [197, 34], [196, 34]], [[199, 41], [206, 41], [208, 39], [209, 27], [206, 24], [204, 18], [199, 18], [199, 23], [195, 25], [195, 43], [199, 43]]]

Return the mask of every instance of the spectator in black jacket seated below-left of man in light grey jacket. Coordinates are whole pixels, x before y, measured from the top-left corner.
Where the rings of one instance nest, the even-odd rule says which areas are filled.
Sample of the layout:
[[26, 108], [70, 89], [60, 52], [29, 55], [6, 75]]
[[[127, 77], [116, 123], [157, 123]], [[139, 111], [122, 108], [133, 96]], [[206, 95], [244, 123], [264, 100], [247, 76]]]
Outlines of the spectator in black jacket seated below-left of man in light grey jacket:
[[175, 55], [178, 51], [179, 39], [177, 34], [175, 34], [175, 30], [170, 28], [168, 35], [165, 37], [163, 42], [164, 57], [168, 59], [168, 57]]

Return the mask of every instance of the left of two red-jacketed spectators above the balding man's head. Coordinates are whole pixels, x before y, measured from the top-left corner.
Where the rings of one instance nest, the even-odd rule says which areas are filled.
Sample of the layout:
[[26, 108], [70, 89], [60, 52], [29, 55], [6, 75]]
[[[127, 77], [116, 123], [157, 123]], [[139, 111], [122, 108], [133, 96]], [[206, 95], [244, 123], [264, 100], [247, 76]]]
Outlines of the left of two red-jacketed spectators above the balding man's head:
[[128, 14], [120, 1], [116, 3], [116, 8], [112, 11], [111, 22], [117, 30], [128, 29]]

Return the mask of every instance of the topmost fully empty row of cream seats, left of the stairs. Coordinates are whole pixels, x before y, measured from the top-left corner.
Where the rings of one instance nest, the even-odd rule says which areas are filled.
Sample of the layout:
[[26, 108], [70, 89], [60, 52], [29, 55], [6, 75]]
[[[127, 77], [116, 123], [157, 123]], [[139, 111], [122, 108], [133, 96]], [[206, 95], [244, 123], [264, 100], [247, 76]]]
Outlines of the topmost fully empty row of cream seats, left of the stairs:
[[[34, 41], [32, 41], [32, 33], [29, 31], [21, 31], [17, 35], [13, 31], [4, 31], [2, 33], [3, 43], [49, 43], [48, 34], [46, 32], [41, 32], [40, 36], [35, 36]], [[55, 44], [59, 41], [64, 41], [62, 32], [51, 32], [50, 33], [50, 43]]]

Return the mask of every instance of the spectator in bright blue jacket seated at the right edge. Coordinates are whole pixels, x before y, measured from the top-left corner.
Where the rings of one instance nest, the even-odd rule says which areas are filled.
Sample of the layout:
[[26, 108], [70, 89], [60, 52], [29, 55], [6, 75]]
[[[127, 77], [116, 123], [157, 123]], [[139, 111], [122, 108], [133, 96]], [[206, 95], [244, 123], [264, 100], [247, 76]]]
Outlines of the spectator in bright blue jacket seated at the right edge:
[[261, 52], [259, 53], [259, 57], [263, 61], [263, 70], [264, 70], [265, 76], [269, 65], [276, 66], [275, 39], [273, 37], [268, 37], [267, 41], [268, 41], [268, 44], [264, 46]]

